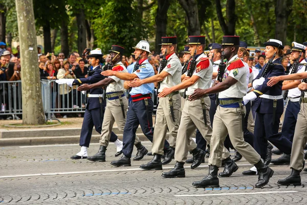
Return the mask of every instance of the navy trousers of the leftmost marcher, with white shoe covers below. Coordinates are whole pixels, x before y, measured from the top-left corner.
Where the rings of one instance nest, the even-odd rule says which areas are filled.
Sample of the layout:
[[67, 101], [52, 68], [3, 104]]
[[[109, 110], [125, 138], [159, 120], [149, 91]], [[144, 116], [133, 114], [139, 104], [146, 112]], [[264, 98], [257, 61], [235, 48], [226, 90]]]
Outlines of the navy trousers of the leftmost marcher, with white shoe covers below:
[[[103, 111], [104, 114], [104, 111]], [[92, 110], [85, 110], [84, 118], [82, 122], [81, 135], [80, 135], [80, 146], [90, 147], [92, 138], [93, 128], [100, 134], [102, 128], [103, 116], [100, 116], [100, 108]], [[114, 142], [117, 140], [117, 135], [112, 132], [110, 141]]]

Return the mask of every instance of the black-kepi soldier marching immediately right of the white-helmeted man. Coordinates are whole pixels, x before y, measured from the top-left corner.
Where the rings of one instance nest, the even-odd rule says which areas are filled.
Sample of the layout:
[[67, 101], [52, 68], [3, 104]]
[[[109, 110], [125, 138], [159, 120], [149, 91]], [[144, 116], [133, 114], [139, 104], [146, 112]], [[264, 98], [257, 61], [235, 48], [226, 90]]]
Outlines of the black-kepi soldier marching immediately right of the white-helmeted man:
[[[131, 81], [129, 87], [140, 87], [143, 84], [158, 83], [158, 93], [164, 88], [176, 86], [181, 83], [181, 62], [176, 55], [177, 37], [162, 37], [161, 52], [165, 55], [165, 68], [160, 65], [157, 75], [140, 79], [136, 78]], [[159, 85], [160, 84], [160, 85]], [[153, 141], [151, 152], [153, 159], [146, 165], [141, 165], [144, 170], [162, 170], [162, 165], [169, 163], [174, 156], [174, 150], [170, 147], [164, 147], [165, 135], [167, 129], [169, 136], [176, 139], [179, 128], [179, 113], [181, 106], [181, 98], [178, 91], [172, 92], [165, 97], [159, 98], [159, 105], [156, 113], [155, 132], [153, 133]], [[164, 160], [161, 162], [161, 156]]]

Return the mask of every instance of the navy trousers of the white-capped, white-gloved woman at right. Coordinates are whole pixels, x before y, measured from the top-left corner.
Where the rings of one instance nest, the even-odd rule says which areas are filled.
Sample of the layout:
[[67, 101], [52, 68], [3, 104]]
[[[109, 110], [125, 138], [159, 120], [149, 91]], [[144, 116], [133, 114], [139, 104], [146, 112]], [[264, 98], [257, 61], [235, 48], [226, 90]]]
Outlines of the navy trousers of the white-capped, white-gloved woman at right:
[[254, 130], [254, 149], [262, 159], [266, 158], [268, 140], [285, 154], [291, 154], [292, 142], [278, 133], [280, 116], [276, 113], [273, 125], [273, 113], [256, 112]]

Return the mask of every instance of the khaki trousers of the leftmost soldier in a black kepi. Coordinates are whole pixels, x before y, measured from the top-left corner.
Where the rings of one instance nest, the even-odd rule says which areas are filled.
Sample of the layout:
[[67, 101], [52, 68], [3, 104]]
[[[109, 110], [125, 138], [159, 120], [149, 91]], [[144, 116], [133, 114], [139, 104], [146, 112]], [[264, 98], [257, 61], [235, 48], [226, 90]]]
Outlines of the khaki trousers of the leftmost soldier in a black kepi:
[[[126, 111], [128, 109], [128, 100], [126, 97], [123, 97], [122, 100], [123, 100], [123, 105], [124, 105], [124, 111]], [[126, 117], [127, 117], [126, 112], [125, 112], [125, 118], [123, 116], [119, 99], [113, 99], [113, 100], [107, 99], [106, 100], [106, 107], [105, 107], [104, 117], [103, 117], [103, 122], [102, 122], [102, 130], [101, 130], [100, 140], [99, 140], [100, 145], [105, 146], [105, 147], [108, 146], [108, 142], [110, 140], [114, 122], [116, 122], [119, 132], [121, 134], [124, 133]], [[136, 136], [135, 145], [139, 141], [140, 141], [139, 137]]]

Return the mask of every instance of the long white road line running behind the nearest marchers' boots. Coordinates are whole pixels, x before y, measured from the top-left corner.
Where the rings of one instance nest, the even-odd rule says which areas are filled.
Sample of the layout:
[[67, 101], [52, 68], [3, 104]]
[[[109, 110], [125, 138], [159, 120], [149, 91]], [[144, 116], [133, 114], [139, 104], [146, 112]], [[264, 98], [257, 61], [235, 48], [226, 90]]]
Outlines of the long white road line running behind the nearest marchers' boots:
[[[240, 166], [251, 166], [250, 164], [238, 165]], [[199, 168], [207, 168], [208, 165], [201, 165]], [[174, 167], [163, 167], [163, 170], [170, 170]], [[184, 168], [191, 168], [190, 166], [185, 166]], [[66, 175], [66, 174], [86, 174], [86, 173], [103, 173], [103, 172], [127, 172], [127, 171], [144, 171], [140, 168], [126, 168], [126, 169], [110, 169], [110, 170], [93, 170], [93, 171], [80, 171], [80, 172], [55, 172], [55, 173], [38, 173], [38, 174], [21, 174], [21, 175], [7, 175], [0, 176], [0, 178], [13, 178], [13, 177], [29, 177], [29, 176], [50, 176], [50, 175]]]

